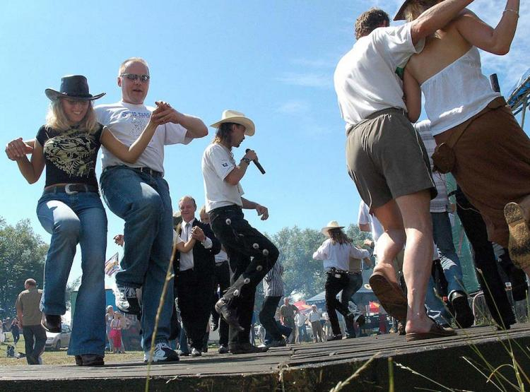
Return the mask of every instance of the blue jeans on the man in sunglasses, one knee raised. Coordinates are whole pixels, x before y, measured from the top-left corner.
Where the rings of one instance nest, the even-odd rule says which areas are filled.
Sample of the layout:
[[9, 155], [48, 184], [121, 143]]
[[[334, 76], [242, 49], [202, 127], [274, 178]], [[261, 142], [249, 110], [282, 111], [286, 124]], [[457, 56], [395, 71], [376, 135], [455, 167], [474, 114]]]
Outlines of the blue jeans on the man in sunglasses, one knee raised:
[[[103, 200], [125, 220], [122, 271], [116, 283], [142, 287], [142, 347], [151, 348], [155, 316], [162, 295], [173, 241], [170, 189], [162, 177], [131, 167], [107, 167], [100, 178]], [[167, 286], [155, 343], [167, 343], [173, 307], [173, 280]]]

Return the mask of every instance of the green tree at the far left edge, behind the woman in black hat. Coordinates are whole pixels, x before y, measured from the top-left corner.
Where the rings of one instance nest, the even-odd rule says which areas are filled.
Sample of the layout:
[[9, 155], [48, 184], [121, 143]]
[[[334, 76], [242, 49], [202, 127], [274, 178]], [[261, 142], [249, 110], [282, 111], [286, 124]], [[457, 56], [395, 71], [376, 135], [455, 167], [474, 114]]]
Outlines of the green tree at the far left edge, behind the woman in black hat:
[[29, 220], [7, 225], [0, 217], [0, 308], [14, 314], [24, 281], [34, 278], [42, 287], [48, 245], [33, 232]]

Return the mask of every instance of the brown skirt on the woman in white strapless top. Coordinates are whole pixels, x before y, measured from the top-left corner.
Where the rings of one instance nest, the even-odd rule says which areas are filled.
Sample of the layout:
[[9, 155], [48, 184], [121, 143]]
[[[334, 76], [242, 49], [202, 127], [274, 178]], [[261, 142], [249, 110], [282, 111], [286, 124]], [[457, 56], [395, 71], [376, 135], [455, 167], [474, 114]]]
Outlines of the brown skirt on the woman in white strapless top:
[[[454, 128], [435, 136], [447, 142]], [[492, 242], [508, 247], [504, 208], [530, 195], [530, 139], [509, 107], [502, 106], [471, 121], [453, 146], [452, 174], [469, 201], [478, 208]]]

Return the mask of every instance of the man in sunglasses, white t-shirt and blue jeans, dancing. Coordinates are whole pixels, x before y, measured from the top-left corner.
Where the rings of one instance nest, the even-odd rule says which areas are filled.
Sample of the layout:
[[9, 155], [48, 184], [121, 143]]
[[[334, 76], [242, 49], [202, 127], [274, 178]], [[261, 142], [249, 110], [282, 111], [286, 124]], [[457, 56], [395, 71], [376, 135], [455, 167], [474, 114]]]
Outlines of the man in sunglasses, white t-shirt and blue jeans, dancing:
[[[145, 128], [154, 107], [143, 105], [149, 90], [149, 69], [144, 59], [133, 57], [119, 66], [117, 83], [122, 100], [95, 107], [98, 121], [119, 141], [130, 145]], [[142, 347], [150, 360], [151, 336], [172, 251], [172, 206], [164, 176], [164, 146], [187, 144], [208, 134], [201, 119], [168, 107], [156, 114], [162, 125], [136, 163], [123, 162], [102, 148], [100, 186], [110, 210], [125, 220], [122, 271], [116, 273], [116, 306], [129, 314], [141, 314]], [[136, 289], [142, 288], [140, 309]], [[170, 282], [156, 331], [153, 362], [179, 360], [167, 345], [170, 335], [173, 284]]]

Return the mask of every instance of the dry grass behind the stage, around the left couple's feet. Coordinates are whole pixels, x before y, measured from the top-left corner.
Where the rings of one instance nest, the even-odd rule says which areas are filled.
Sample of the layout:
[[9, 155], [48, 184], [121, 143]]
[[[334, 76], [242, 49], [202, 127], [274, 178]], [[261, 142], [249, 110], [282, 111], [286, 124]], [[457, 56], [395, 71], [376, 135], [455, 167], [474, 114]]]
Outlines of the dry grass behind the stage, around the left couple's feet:
[[[13, 337], [8, 333], [8, 340], [0, 344], [0, 366], [29, 366], [25, 358], [8, 358], [6, 357], [6, 350], [8, 345], [13, 345]], [[16, 344], [16, 351], [25, 352], [24, 337], [20, 335], [20, 340]], [[143, 351], [127, 351], [125, 354], [112, 354], [112, 352], [105, 352], [105, 362], [123, 362], [123, 361], [138, 361], [143, 362]], [[44, 364], [75, 364], [73, 356], [66, 355], [66, 348], [61, 350], [52, 350], [46, 348], [42, 354], [42, 362]]]

